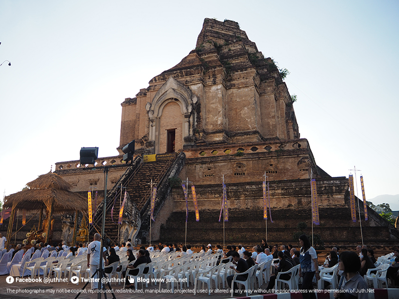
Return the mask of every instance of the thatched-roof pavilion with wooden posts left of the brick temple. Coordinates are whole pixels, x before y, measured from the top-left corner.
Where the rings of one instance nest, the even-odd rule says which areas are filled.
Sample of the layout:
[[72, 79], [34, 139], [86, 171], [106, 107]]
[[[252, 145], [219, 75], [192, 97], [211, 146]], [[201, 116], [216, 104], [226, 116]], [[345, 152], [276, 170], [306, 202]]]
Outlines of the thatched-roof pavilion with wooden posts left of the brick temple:
[[[12, 208], [10, 225], [8, 225], [7, 240], [10, 239], [12, 222], [16, 210], [42, 210], [46, 207], [48, 221], [51, 221], [52, 213], [63, 214], [65, 212], [81, 211], [87, 214], [87, 200], [79, 194], [69, 191], [72, 186], [61, 176], [54, 172], [39, 175], [38, 178], [26, 184], [29, 189], [10, 194], [5, 197], [4, 207]], [[76, 219], [75, 219], [76, 221]], [[39, 219], [41, 222], [41, 217]], [[46, 242], [50, 231], [47, 225]]]

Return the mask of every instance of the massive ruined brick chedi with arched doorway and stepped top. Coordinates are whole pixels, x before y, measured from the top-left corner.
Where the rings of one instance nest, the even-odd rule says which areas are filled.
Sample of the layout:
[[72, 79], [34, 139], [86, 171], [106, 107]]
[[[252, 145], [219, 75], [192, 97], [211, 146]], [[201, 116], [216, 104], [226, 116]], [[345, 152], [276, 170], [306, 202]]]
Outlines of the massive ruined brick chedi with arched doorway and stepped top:
[[[321, 222], [315, 233], [329, 244], [361, 243], [359, 223], [351, 220], [347, 178], [331, 177], [316, 164], [309, 142], [300, 138], [293, 101], [278, 68], [235, 21], [206, 18], [196, 48], [151, 79], [135, 98], [125, 99], [119, 155], [98, 159], [100, 165], [105, 160], [111, 161], [108, 165], [122, 165], [122, 148], [132, 140], [136, 155], [144, 155], [144, 164], [151, 163], [155, 154], [180, 153], [165, 166], [163, 175], [159, 170], [145, 175], [158, 180], [161, 190], [152, 240], [184, 241], [183, 190], [165, 185], [168, 177], [179, 176], [196, 185], [200, 209], [196, 222], [189, 192], [188, 242], [221, 243], [218, 217], [224, 177], [230, 216], [225, 223], [226, 243], [259, 243], [265, 236], [262, 180], [266, 173], [274, 221], [268, 220], [270, 242], [296, 244], [293, 235], [300, 222], [306, 223], [304, 232], [310, 233], [313, 175]], [[77, 165], [77, 161], [59, 162], [56, 167], [75, 191], [87, 191], [97, 182], [102, 186], [100, 169]], [[130, 185], [127, 180], [118, 182], [128, 168], [114, 169], [112, 182]], [[124, 221], [135, 223], [134, 232], [125, 236], [148, 242], [149, 193], [138, 200], [132, 188], [130, 201], [140, 213], [124, 214]], [[140, 219], [131, 219], [132, 215]], [[370, 209], [369, 219], [362, 221], [366, 244], [397, 242], [399, 232]]]

